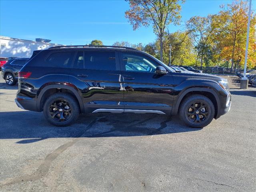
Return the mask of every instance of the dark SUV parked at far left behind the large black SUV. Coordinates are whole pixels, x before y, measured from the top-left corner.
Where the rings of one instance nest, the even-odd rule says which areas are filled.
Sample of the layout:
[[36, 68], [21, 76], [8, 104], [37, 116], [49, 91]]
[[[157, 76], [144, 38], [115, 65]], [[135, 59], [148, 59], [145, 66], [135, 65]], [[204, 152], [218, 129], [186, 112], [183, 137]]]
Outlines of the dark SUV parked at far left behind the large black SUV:
[[8, 62], [2, 66], [2, 77], [6, 81], [6, 84], [16, 85], [18, 72], [28, 60], [29, 58], [16, 58], [8, 60]]

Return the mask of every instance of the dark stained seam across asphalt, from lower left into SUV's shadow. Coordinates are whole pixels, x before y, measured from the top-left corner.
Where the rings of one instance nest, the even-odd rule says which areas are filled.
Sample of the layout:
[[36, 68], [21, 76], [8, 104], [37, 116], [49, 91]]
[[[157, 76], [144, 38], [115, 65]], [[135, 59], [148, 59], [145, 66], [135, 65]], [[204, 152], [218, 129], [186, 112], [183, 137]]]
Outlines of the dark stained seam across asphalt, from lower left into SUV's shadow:
[[52, 164], [52, 162], [62, 153], [64, 152], [67, 148], [69, 148], [70, 146], [74, 145], [76, 142], [78, 142], [78, 140], [80, 139], [80, 137], [85, 134], [85, 132], [87, 130], [89, 130], [96, 122], [98, 121], [98, 118], [94, 119], [88, 126], [86, 126], [85, 129], [83, 129], [82, 131], [80, 131], [78, 134], [72, 136], [75, 139], [73, 139], [70, 142], [67, 142], [61, 146], [59, 146], [56, 150], [54, 150], [53, 152], [51, 152], [50, 154], [48, 154], [46, 156], [46, 158], [44, 159], [44, 162], [38, 167], [38, 169], [33, 172], [32, 174], [27, 174], [27, 175], [23, 175], [23, 176], [18, 176], [16, 178], [8, 178], [5, 181], [1, 182], [1, 187], [3, 186], [8, 186], [11, 184], [17, 184], [20, 182], [26, 182], [26, 181], [32, 181], [32, 180], [38, 180], [44, 176], [46, 176], [46, 174], [48, 173], [50, 166]]

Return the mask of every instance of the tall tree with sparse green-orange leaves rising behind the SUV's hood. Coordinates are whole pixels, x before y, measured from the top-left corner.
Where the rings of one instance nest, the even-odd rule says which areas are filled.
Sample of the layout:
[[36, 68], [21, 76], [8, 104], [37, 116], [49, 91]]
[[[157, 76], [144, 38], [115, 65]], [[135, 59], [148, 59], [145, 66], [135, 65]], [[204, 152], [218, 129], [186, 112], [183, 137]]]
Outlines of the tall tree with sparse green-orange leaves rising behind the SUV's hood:
[[[179, 24], [181, 5], [179, 0], [127, 0], [130, 9], [125, 12], [133, 29], [141, 25], [153, 25], [154, 32], [160, 40], [160, 60], [163, 61], [163, 36], [170, 23]], [[184, 0], [182, 0], [184, 2]]]

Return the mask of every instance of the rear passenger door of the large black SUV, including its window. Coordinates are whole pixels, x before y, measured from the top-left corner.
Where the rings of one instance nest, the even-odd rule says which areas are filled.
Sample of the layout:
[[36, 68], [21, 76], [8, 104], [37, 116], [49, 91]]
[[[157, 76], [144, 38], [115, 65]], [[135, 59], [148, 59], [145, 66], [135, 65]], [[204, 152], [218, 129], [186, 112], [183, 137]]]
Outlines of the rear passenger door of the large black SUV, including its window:
[[86, 112], [124, 112], [124, 89], [115, 51], [78, 51], [70, 82], [82, 93]]

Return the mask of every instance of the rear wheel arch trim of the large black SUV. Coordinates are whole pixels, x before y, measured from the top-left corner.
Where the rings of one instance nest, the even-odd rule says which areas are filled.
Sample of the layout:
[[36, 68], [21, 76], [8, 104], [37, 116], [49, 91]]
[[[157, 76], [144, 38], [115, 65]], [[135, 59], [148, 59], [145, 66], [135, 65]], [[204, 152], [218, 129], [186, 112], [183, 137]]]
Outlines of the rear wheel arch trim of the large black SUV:
[[38, 111], [42, 111], [44, 102], [46, 101], [47, 96], [50, 96], [51, 94], [57, 93], [57, 92], [65, 92], [70, 95], [72, 95], [78, 102], [80, 107], [80, 112], [84, 112], [84, 104], [82, 101], [82, 97], [78, 93], [76, 87], [74, 85], [60, 85], [60, 84], [54, 84], [54, 85], [47, 85], [42, 88], [40, 91], [37, 102], [36, 102], [36, 108]]

